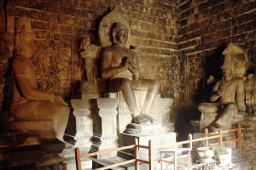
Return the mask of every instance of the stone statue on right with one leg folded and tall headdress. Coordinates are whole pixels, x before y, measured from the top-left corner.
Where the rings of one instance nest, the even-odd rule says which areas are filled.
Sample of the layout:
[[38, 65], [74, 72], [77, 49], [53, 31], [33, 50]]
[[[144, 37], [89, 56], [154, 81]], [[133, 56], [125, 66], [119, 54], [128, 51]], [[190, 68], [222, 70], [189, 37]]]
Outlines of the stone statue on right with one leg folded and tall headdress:
[[[218, 128], [230, 129], [235, 114], [243, 114], [246, 109], [244, 81], [241, 77], [244, 75], [246, 69], [242, 68], [242, 71], [236, 71], [235, 67], [239, 65], [236, 62], [236, 56], [241, 56], [244, 52], [240, 47], [230, 43], [223, 54], [224, 63], [221, 66], [223, 78], [213, 86], [210, 97], [211, 102], [218, 101], [218, 103], [201, 103], [198, 106], [199, 111], [202, 112], [202, 116], [209, 116], [211, 114], [206, 113], [217, 111], [218, 114], [213, 114], [212, 120], [207, 123], [204, 123], [204, 121], [209, 121], [207, 117], [201, 117], [201, 124], [204, 124], [201, 130], [204, 127], [210, 127], [213, 132], [218, 131]], [[241, 63], [244, 64], [243, 62]], [[239, 74], [236, 74], [236, 72]]]

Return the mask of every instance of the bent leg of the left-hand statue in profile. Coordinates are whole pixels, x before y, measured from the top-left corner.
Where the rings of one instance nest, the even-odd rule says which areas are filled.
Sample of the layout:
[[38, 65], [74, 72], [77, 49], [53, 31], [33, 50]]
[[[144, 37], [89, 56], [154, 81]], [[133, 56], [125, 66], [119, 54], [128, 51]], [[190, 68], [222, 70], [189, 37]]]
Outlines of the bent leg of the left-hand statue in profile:
[[52, 121], [55, 137], [62, 139], [67, 127], [69, 108], [55, 102], [32, 101], [11, 113], [15, 121]]

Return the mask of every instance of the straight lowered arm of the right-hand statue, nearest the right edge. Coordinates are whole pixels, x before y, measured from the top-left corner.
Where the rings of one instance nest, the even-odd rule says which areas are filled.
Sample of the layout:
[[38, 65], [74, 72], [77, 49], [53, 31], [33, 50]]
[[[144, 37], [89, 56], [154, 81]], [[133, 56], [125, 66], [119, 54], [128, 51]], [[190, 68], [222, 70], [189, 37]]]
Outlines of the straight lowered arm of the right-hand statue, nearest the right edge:
[[242, 80], [238, 80], [236, 83], [236, 104], [238, 111], [245, 111], [245, 88]]

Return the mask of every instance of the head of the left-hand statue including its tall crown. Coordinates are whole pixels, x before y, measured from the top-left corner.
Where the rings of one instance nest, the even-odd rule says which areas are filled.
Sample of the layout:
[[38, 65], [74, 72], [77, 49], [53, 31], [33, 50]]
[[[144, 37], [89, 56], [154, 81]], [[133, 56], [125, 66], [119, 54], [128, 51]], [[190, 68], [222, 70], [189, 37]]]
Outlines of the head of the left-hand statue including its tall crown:
[[31, 20], [20, 16], [16, 21], [15, 54], [31, 57], [34, 54], [35, 31], [32, 30]]

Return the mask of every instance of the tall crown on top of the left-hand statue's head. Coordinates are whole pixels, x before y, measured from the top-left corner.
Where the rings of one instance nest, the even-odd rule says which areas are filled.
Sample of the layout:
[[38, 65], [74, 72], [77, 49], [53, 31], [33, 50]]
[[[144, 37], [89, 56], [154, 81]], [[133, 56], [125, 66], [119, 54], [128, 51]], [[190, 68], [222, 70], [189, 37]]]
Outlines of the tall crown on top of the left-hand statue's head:
[[26, 16], [20, 16], [16, 21], [16, 32], [25, 31], [33, 32], [31, 27], [31, 19]]

